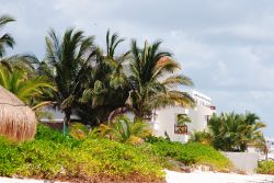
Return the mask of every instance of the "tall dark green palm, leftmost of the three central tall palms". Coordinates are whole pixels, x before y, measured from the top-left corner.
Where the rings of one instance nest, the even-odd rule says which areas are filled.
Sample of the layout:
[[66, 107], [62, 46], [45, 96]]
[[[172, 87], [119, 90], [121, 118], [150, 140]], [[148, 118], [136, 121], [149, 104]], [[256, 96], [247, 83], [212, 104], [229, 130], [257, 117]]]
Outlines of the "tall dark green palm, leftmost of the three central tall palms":
[[54, 101], [65, 113], [66, 125], [83, 92], [87, 73], [91, 69], [91, 59], [95, 55], [93, 36], [85, 37], [82, 31], [69, 28], [61, 39], [52, 30], [46, 37], [46, 60], [39, 72], [55, 82], [57, 91]]

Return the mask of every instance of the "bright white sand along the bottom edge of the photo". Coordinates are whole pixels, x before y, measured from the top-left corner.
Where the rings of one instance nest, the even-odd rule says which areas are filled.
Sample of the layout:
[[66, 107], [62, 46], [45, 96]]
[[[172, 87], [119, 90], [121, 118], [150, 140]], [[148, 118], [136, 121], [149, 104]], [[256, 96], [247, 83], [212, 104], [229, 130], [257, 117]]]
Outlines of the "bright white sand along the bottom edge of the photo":
[[[180, 173], [168, 171], [168, 183], [274, 183], [274, 176], [252, 174], [241, 175], [235, 173], [214, 173], [195, 171], [192, 173]], [[42, 180], [20, 180], [10, 178], [0, 178], [0, 183], [58, 183]]]

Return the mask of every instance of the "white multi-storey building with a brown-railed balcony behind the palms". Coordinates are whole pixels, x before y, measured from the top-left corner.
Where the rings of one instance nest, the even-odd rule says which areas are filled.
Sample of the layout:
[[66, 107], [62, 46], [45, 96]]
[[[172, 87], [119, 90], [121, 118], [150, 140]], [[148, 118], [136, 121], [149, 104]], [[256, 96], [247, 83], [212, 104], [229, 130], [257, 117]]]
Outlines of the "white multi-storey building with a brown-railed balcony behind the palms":
[[[189, 91], [189, 93], [196, 101], [196, 107], [187, 110], [174, 106], [156, 111], [152, 119], [156, 136], [164, 137], [167, 133], [172, 141], [186, 142], [191, 133], [207, 130], [209, 116], [216, 110], [212, 105], [212, 99], [195, 90]], [[186, 126], [178, 125], [180, 114], [187, 115], [192, 122]]]

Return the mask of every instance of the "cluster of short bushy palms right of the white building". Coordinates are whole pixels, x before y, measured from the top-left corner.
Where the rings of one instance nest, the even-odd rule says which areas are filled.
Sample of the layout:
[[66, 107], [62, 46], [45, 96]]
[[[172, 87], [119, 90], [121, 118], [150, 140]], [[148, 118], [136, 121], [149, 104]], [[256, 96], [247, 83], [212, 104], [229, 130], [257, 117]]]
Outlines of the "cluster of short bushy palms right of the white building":
[[265, 147], [262, 128], [265, 125], [254, 113], [214, 114], [209, 119], [209, 133], [194, 133], [192, 141], [210, 144], [224, 151], [246, 151], [248, 145]]

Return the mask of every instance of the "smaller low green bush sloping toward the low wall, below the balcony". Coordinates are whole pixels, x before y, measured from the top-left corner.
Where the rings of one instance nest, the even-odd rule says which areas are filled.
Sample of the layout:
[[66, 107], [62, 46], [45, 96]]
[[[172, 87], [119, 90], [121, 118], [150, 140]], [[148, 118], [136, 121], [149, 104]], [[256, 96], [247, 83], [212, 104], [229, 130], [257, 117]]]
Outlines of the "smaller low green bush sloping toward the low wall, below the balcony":
[[205, 164], [219, 171], [228, 171], [231, 168], [229, 160], [210, 146], [194, 142], [182, 145], [162, 138], [152, 141], [156, 141], [152, 142], [152, 151], [156, 155], [173, 158], [186, 165]]

